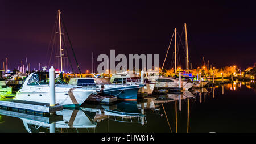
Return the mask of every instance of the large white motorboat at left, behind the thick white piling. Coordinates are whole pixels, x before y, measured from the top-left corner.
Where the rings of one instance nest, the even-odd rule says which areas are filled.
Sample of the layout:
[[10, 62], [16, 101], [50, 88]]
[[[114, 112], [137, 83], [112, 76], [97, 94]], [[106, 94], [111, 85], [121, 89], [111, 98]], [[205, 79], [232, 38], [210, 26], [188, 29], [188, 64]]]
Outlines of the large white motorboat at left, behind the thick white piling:
[[[96, 91], [95, 87], [81, 87], [65, 84], [56, 79], [55, 100], [56, 104], [65, 107], [77, 107]], [[49, 103], [49, 72], [31, 73], [24, 81], [22, 88], [17, 92], [16, 100]]]

